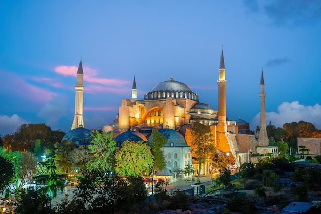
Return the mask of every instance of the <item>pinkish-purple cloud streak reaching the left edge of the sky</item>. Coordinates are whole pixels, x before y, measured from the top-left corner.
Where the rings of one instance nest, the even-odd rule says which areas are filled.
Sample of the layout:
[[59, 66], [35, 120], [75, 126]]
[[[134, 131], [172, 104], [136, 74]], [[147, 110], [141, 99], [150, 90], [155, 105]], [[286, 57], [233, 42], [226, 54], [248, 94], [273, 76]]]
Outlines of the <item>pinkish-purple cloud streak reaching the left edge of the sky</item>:
[[12, 96], [17, 96], [18, 99], [34, 101], [37, 103], [46, 103], [52, 100], [52, 97], [56, 95], [53, 92], [29, 84], [21, 76], [3, 71], [0, 71], [0, 75], [6, 77], [6, 81], [2, 82], [2, 90], [0, 93], [10, 92]]

